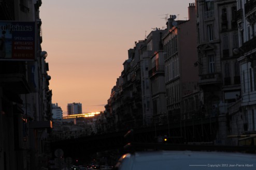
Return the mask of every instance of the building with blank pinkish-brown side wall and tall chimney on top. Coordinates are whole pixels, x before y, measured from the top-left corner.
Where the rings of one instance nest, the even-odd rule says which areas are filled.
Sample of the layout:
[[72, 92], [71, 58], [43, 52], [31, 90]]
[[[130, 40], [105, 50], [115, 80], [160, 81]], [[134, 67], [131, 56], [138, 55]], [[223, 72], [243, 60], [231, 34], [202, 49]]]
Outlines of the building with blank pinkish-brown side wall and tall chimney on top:
[[188, 13], [187, 21], [175, 21], [176, 16], [171, 15], [166, 23], [168, 31], [163, 36], [167, 113], [177, 121], [180, 114], [186, 112], [182, 97], [198, 90], [198, 69], [194, 67], [198, 62], [193, 3], [189, 4]]

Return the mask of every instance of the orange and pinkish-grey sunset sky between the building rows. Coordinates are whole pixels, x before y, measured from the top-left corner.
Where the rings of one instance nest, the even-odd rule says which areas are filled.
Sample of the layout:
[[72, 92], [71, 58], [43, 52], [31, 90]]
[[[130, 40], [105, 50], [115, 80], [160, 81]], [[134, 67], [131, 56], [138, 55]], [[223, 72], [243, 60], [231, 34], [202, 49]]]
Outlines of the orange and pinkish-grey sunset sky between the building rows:
[[52, 102], [64, 114], [73, 102], [82, 103], [83, 113], [104, 111], [127, 50], [153, 28], [166, 28], [166, 14], [186, 20], [194, 2], [43, 0], [41, 46], [48, 53]]

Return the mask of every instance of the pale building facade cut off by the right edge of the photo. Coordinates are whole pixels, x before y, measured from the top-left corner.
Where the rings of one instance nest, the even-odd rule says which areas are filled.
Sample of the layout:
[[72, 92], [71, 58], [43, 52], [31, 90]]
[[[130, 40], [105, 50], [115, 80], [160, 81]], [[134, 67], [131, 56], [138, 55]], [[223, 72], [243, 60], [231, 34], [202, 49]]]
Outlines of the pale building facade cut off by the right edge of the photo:
[[[241, 99], [239, 112], [233, 116], [236, 123], [231, 125], [232, 134], [255, 135], [256, 131], [255, 5], [256, 1], [237, 1], [239, 47], [234, 52], [239, 57], [237, 60], [241, 77]], [[250, 140], [253, 138], [249, 137], [245, 141], [250, 142]], [[238, 143], [237, 141], [233, 139], [235, 144]]]

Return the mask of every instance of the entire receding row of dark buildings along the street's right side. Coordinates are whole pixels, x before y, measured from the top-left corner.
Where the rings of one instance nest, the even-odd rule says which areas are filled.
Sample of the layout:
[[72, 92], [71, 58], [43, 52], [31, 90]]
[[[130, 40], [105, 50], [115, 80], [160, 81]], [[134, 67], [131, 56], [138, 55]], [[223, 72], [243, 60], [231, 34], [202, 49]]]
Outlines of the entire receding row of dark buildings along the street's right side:
[[[253, 5], [195, 1], [189, 4], [188, 20], [176, 21], [171, 15], [166, 30], [156, 28], [135, 42], [105, 105], [108, 125], [156, 128], [168, 122], [186, 129], [181, 122], [215, 118], [218, 131], [206, 134], [209, 142], [237, 145], [251, 140], [256, 122]], [[162, 41], [151, 40], [157, 32], [162, 32]], [[161, 44], [163, 49], [152, 48]], [[251, 137], [237, 137], [243, 134]]]

